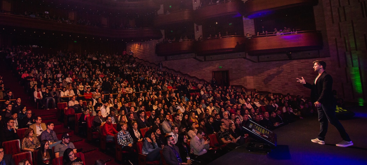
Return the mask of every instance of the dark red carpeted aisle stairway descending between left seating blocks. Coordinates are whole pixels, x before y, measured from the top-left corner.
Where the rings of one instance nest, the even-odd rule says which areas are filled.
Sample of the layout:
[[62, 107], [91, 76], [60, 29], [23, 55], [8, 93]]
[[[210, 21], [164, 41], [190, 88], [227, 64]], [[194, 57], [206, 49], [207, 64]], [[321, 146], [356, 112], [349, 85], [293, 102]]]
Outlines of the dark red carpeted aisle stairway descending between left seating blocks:
[[[2, 66], [6, 66], [4, 61], [1, 62]], [[17, 73], [15, 73], [17, 74]], [[74, 143], [77, 149], [83, 148], [85, 164], [84, 165], [93, 165], [95, 160], [103, 159], [107, 162], [107, 165], [117, 165], [114, 161], [115, 155], [106, 155], [98, 150], [99, 142], [91, 142], [87, 143], [86, 139], [79, 137], [74, 134], [74, 131], [68, 128], [65, 128], [63, 123], [57, 121], [57, 110], [39, 110], [35, 108], [34, 101], [30, 100], [30, 97], [25, 93], [24, 87], [22, 87], [16, 75], [12, 73], [11, 70], [2, 71], [1, 75], [3, 76], [4, 85], [6, 88], [10, 88], [14, 98], [20, 97], [22, 99], [22, 104], [26, 105], [27, 109], [32, 110], [32, 113], [37, 116], [41, 116], [42, 122], [54, 122], [55, 132], [57, 133], [57, 137], [60, 140], [63, 133], [69, 133], [71, 135], [70, 141]]]

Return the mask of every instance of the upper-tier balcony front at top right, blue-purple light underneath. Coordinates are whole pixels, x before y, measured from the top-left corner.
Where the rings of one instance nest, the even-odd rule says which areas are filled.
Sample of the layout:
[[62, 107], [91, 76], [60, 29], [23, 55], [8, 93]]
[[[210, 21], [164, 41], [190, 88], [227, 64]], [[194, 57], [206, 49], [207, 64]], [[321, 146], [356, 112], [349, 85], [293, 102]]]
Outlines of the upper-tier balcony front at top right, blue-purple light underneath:
[[317, 3], [318, 0], [248, 0], [245, 6], [245, 16], [253, 19], [272, 14], [276, 10], [296, 6], [315, 6]]

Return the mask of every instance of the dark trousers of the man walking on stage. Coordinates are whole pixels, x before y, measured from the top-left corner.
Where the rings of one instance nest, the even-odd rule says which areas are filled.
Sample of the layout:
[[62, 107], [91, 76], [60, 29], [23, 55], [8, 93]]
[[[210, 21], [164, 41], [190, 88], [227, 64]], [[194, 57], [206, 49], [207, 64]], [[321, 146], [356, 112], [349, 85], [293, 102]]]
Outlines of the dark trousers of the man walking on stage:
[[319, 113], [319, 122], [320, 122], [320, 133], [319, 133], [319, 140], [324, 141], [328, 122], [337, 128], [340, 133], [340, 136], [345, 141], [351, 141], [349, 135], [345, 132], [343, 125], [339, 122], [337, 116], [335, 116], [335, 104], [321, 104], [320, 107], [317, 107], [317, 112]]

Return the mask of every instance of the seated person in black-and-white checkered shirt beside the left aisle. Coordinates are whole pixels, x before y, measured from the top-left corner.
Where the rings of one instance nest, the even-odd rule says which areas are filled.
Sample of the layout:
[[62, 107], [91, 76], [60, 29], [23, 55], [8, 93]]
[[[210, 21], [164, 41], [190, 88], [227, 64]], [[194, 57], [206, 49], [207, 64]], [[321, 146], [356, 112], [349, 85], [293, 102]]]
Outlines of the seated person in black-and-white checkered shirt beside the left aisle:
[[127, 158], [130, 163], [131, 161], [137, 162], [137, 160], [133, 159], [137, 158], [137, 155], [134, 153], [134, 148], [132, 146], [134, 141], [132, 140], [130, 133], [127, 131], [127, 123], [121, 124], [121, 131], [117, 133], [117, 143], [122, 146], [123, 151], [128, 152]]

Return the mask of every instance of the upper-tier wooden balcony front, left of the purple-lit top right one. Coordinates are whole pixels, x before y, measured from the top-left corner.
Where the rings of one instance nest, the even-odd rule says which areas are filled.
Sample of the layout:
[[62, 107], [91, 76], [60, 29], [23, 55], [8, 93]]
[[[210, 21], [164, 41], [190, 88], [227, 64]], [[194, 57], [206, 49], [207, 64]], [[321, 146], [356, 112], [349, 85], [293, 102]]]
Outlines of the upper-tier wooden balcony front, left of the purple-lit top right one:
[[195, 23], [201, 24], [201, 21], [215, 17], [241, 17], [244, 14], [245, 4], [243, 1], [230, 0], [221, 3], [214, 3], [195, 10]]

